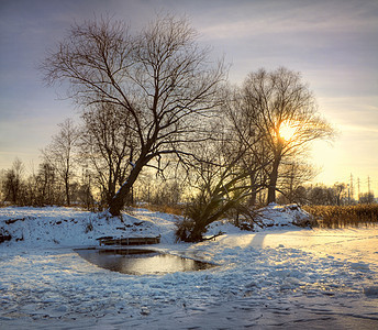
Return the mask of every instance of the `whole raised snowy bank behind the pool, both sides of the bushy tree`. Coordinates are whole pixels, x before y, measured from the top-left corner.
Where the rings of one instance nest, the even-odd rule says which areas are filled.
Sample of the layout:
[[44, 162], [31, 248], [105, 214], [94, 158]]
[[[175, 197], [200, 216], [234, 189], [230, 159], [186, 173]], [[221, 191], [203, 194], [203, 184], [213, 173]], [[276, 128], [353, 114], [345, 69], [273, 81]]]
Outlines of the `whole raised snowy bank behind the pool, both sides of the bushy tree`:
[[[154, 216], [155, 215], [155, 216]], [[92, 213], [75, 208], [1, 208], [0, 235], [3, 240], [32, 246], [76, 246], [98, 244], [101, 237], [156, 238], [163, 243], [174, 243], [175, 223], [180, 218], [151, 212], [146, 209], [130, 209], [122, 220], [107, 212]], [[311, 216], [297, 205], [271, 204], [255, 211], [254, 231], [281, 227], [307, 227]], [[208, 234], [240, 232], [227, 220], [208, 227]]]

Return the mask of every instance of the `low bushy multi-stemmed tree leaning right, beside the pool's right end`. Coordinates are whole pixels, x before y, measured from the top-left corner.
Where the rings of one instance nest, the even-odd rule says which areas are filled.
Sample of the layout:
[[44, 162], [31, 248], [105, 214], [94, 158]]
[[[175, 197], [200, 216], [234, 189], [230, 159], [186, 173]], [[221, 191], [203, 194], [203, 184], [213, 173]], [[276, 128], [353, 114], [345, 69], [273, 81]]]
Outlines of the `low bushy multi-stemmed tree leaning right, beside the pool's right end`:
[[201, 241], [208, 224], [227, 212], [247, 211], [246, 200], [264, 187], [256, 183], [255, 176], [265, 165], [249, 163], [253, 145], [241, 143], [233, 123], [223, 116], [212, 132], [212, 141], [203, 143], [197, 158], [188, 164], [198, 194], [187, 208], [187, 219], [176, 231], [182, 241]]

